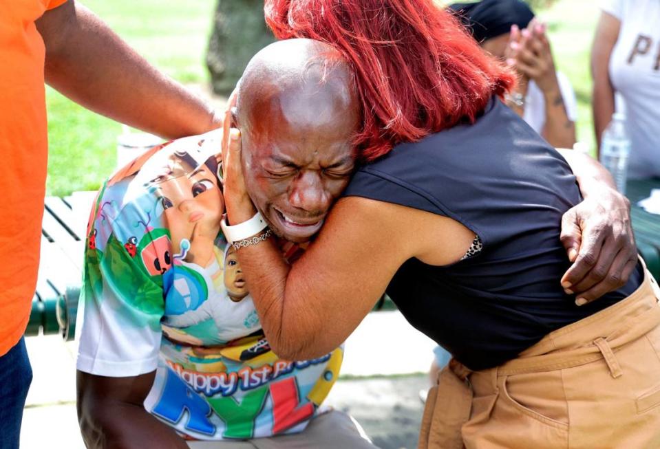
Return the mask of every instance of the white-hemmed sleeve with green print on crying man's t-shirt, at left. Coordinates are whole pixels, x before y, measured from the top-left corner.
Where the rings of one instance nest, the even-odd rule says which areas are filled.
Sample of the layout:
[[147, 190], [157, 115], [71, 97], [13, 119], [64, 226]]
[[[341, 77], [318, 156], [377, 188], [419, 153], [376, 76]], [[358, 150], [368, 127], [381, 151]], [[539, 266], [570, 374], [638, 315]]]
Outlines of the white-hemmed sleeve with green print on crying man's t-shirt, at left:
[[[95, 208], [121, 201], [113, 193], [107, 188]], [[127, 206], [114, 215], [111, 207], [94, 211], [96, 219], [87, 234], [76, 367], [95, 375], [128, 377], [158, 366], [164, 301], [162, 287], [139, 265], [139, 255], [131, 256], [122, 243], [131, 229], [123, 217], [136, 208]]]

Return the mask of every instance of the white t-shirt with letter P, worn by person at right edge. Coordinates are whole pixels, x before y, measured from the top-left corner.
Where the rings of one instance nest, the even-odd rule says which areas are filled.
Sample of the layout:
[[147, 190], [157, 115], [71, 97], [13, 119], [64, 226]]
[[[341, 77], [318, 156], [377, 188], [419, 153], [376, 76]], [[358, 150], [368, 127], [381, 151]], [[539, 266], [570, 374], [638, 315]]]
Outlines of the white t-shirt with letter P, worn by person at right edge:
[[632, 144], [628, 176], [660, 176], [660, 0], [605, 0], [602, 9], [621, 21], [609, 71]]

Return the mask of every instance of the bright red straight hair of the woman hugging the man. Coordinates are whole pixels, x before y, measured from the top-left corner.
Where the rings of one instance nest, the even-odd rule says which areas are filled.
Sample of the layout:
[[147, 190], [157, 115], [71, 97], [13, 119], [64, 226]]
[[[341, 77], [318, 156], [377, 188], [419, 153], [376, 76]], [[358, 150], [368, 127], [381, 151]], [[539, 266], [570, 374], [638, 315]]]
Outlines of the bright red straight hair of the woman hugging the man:
[[474, 122], [515, 83], [434, 0], [266, 0], [264, 12], [277, 39], [328, 43], [348, 61], [363, 108], [355, 143], [365, 161]]

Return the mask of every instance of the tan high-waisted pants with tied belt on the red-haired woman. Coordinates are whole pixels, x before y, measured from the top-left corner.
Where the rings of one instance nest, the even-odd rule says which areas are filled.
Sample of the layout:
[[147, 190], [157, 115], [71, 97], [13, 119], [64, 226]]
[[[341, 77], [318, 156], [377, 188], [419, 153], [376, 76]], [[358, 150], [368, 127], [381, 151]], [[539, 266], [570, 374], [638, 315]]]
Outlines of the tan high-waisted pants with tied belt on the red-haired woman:
[[660, 306], [646, 272], [628, 298], [429, 392], [419, 448], [660, 448]]

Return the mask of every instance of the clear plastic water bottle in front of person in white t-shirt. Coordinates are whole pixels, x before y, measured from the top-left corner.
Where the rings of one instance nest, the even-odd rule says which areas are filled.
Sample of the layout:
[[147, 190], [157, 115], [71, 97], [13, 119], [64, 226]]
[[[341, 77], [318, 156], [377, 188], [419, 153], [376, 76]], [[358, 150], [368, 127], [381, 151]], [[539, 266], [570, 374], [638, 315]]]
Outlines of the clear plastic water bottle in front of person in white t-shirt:
[[626, 193], [626, 175], [628, 171], [628, 156], [630, 155], [630, 139], [626, 133], [626, 116], [615, 112], [612, 121], [603, 133], [600, 144], [600, 162], [612, 174], [617, 183], [617, 190]]

